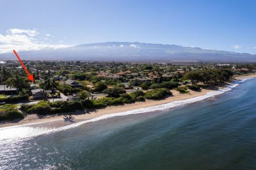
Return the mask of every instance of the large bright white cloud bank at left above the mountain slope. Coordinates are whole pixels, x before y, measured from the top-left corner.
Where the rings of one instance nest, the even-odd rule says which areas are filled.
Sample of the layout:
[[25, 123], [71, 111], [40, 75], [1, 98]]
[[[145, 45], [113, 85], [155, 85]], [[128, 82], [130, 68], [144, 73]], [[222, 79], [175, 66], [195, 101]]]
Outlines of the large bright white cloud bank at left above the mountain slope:
[[[36, 29], [8, 29], [6, 35], [0, 33], [0, 53], [12, 52], [12, 50], [43, 50], [66, 48], [70, 45], [65, 44], [48, 44], [40, 42], [36, 36], [39, 33]], [[45, 38], [47, 39], [47, 38]]]

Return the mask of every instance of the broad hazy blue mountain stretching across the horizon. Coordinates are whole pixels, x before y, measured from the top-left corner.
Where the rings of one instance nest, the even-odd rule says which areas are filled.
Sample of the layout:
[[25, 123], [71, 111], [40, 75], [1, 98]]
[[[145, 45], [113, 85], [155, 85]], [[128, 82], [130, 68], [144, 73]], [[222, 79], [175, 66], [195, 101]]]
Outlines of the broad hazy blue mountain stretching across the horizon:
[[[140, 42], [102, 42], [80, 44], [56, 50], [18, 52], [22, 59], [81, 60], [81, 61], [219, 61], [253, 62], [256, 55], [203, 50], [170, 44]], [[13, 53], [0, 54], [0, 59], [16, 59]]]

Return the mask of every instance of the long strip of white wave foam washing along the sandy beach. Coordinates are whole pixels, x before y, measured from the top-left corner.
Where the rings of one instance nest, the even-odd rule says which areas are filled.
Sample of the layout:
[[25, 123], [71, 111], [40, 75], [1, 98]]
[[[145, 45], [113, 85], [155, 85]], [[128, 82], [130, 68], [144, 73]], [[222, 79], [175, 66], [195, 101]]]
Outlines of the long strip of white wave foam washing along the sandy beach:
[[50, 128], [50, 127], [37, 126], [38, 124], [43, 124], [43, 122], [33, 123], [33, 124], [24, 124], [24, 125], [20, 125], [20, 126], [2, 127], [2, 128], [0, 128], [0, 143], [6, 143], [9, 141], [16, 141], [16, 140], [20, 140], [20, 139], [28, 139], [30, 137], [49, 134], [49, 133], [53, 133], [56, 131], [62, 131], [62, 130], [78, 127], [78, 126], [81, 126], [82, 124], [87, 124], [89, 122], [96, 122], [99, 120], [113, 118], [116, 116], [127, 116], [130, 114], [142, 114], [142, 113], [146, 113], [146, 112], [167, 110], [167, 109], [179, 107], [182, 105], [188, 105], [190, 103], [202, 101], [209, 97], [215, 97], [215, 95], [220, 95], [224, 92], [228, 92], [228, 91], [232, 90], [233, 88], [236, 88], [236, 86], [238, 86], [239, 84], [241, 84], [242, 82], [244, 82], [246, 80], [249, 80], [249, 79], [247, 78], [244, 80], [237, 80], [235, 83], [230, 84], [230, 86], [226, 86], [226, 88], [216, 90], [213, 92], [208, 92], [205, 95], [200, 95], [198, 97], [184, 99], [181, 101], [172, 101], [171, 103], [157, 105], [154, 107], [146, 107], [146, 108], [141, 108], [141, 109], [129, 110], [129, 111], [125, 111], [125, 112], [118, 112], [118, 113], [114, 113], [114, 114], [105, 114], [105, 115], [93, 118], [91, 120], [85, 120], [83, 122], [78, 122], [76, 124], [71, 124], [71, 125], [64, 126], [64, 127]]

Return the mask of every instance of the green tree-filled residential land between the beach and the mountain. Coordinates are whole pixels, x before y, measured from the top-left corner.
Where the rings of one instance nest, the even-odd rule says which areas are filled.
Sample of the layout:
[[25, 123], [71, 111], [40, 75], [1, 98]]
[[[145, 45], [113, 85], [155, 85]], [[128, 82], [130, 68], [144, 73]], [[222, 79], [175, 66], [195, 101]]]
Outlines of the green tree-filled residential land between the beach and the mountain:
[[[159, 100], [171, 96], [170, 90], [179, 93], [189, 93], [190, 90], [200, 92], [202, 88], [230, 81], [234, 74], [245, 75], [256, 70], [253, 64], [24, 62], [33, 73], [35, 82], [30, 84], [24, 70], [16, 69], [18, 63], [9, 61], [8, 67], [12, 69], [0, 67], [0, 85], [5, 84], [5, 88], [9, 88], [9, 91], [2, 90], [0, 103], [8, 106], [39, 100], [37, 104], [21, 105], [21, 110], [28, 114], [55, 114]], [[33, 90], [41, 90], [39, 93], [44, 93], [43, 97], [34, 99]], [[54, 97], [63, 96], [68, 100], [54, 101]], [[49, 102], [52, 98], [53, 101]], [[7, 108], [2, 109], [1, 120], [20, 118], [22, 113], [16, 107]], [[3, 112], [9, 116], [3, 116]]]

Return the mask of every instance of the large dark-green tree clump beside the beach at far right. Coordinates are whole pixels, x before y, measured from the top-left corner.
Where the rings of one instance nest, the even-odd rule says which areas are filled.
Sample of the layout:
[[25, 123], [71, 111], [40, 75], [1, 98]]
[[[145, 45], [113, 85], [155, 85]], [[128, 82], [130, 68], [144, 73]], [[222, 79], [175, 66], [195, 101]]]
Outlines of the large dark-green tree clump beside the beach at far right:
[[203, 84], [217, 84], [218, 82], [224, 82], [230, 80], [233, 76], [231, 69], [203, 69], [198, 71], [188, 71], [184, 78], [190, 79], [192, 85], [198, 82]]

